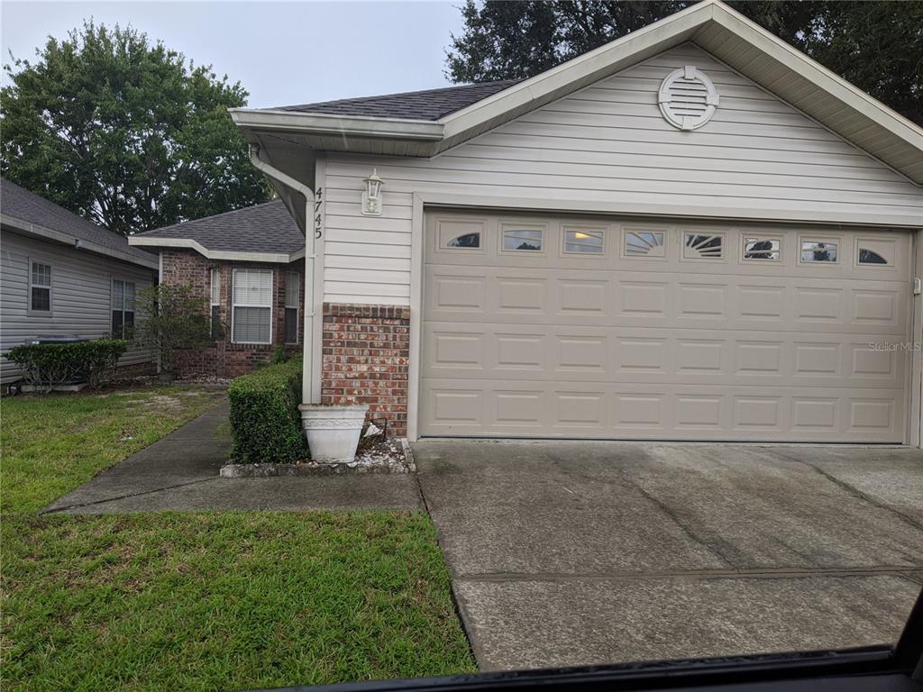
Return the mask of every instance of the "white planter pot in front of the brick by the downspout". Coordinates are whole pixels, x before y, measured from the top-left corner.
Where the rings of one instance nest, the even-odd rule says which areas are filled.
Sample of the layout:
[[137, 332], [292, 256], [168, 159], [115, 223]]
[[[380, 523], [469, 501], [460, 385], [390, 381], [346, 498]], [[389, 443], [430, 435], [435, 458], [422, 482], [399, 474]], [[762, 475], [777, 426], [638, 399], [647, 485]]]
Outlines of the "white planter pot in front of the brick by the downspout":
[[301, 412], [301, 426], [311, 449], [311, 459], [329, 464], [355, 459], [368, 404], [301, 404], [298, 411]]

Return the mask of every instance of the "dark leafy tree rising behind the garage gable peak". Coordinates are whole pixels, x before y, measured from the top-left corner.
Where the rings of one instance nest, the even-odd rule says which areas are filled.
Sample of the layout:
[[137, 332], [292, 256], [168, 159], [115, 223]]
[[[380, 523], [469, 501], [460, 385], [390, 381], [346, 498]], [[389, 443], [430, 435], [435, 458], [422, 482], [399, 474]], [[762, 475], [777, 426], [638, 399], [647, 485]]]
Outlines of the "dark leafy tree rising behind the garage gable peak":
[[[683, 9], [690, 0], [465, 0], [454, 82], [528, 78]], [[731, 0], [821, 65], [923, 124], [923, 1]]]

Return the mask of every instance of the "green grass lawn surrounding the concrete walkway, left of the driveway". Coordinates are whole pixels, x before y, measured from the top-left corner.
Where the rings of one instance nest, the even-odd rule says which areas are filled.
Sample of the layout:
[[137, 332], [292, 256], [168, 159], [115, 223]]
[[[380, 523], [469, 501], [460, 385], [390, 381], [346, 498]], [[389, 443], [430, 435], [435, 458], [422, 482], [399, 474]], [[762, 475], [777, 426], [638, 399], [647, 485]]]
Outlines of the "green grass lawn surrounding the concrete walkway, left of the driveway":
[[36, 514], [214, 396], [158, 388], [0, 405], [0, 687], [213, 690], [473, 671], [426, 514]]

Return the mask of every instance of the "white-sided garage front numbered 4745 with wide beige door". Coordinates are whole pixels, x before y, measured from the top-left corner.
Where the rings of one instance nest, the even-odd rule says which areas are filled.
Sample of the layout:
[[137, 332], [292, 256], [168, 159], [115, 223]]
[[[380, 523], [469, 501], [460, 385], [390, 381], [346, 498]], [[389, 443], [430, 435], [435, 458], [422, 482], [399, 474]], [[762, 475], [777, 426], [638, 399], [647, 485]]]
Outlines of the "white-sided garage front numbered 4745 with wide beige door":
[[520, 82], [233, 116], [309, 228], [306, 401], [920, 443], [923, 130], [717, 0]]

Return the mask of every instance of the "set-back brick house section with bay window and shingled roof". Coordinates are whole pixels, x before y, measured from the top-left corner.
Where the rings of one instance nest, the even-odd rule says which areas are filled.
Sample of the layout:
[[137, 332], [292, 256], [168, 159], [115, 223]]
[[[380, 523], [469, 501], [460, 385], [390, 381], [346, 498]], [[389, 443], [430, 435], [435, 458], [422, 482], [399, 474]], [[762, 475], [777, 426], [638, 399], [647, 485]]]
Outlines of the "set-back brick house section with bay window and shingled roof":
[[184, 352], [182, 375], [234, 377], [301, 349], [305, 236], [282, 201], [131, 236], [160, 253], [162, 283], [191, 283], [211, 306], [214, 344]]

